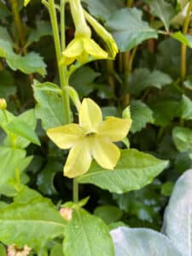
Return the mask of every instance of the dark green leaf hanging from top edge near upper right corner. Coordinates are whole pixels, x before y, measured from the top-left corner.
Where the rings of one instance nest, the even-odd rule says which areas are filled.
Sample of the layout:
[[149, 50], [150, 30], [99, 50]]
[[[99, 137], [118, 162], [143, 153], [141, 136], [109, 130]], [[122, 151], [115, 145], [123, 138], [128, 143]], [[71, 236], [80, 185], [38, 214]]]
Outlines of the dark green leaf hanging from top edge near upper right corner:
[[171, 20], [176, 15], [176, 9], [165, 0], [145, 0], [145, 2], [148, 3], [151, 14], [160, 18], [168, 32]]

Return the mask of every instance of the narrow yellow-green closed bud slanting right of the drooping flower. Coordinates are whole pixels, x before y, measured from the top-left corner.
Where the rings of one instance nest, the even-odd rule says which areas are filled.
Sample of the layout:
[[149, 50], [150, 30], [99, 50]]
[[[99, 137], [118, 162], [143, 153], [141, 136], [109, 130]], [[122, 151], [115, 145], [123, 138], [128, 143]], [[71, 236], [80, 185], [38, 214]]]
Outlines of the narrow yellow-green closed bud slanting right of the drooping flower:
[[97, 20], [95, 20], [91, 15], [89, 15], [85, 10], [84, 10], [84, 17], [90, 23], [90, 26], [94, 28], [98, 36], [102, 38], [102, 40], [107, 44], [109, 56], [114, 59], [119, 50], [112, 35]]

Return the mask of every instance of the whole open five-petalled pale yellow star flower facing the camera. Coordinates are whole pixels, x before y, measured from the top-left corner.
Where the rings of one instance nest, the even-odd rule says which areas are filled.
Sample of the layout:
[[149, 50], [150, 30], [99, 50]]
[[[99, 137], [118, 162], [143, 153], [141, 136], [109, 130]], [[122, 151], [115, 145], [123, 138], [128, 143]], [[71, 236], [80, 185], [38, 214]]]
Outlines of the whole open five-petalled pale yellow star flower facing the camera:
[[78, 177], [89, 170], [92, 159], [103, 168], [113, 170], [120, 156], [113, 142], [123, 140], [130, 127], [131, 119], [108, 117], [103, 121], [96, 102], [85, 98], [79, 108], [79, 125], [51, 128], [47, 135], [59, 148], [71, 148], [64, 175]]

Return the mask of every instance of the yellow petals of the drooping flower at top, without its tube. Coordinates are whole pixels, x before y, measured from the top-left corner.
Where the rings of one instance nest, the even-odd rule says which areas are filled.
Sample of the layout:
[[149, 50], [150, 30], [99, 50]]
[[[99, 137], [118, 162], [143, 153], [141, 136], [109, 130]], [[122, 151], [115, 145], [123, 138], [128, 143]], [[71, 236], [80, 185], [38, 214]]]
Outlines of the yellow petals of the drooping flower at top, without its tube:
[[60, 64], [70, 65], [73, 61], [77, 60], [84, 64], [89, 60], [91, 55], [95, 59], [107, 59], [108, 53], [104, 51], [96, 42], [85, 36], [76, 37], [70, 44], [67, 45], [62, 53]]

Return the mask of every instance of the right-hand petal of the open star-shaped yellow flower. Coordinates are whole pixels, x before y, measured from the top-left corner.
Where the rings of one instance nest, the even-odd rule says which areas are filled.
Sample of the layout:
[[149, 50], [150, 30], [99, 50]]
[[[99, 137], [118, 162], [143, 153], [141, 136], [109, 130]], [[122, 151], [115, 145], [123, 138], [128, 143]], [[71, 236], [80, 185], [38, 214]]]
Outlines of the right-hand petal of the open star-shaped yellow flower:
[[131, 128], [131, 119], [108, 117], [99, 127], [99, 135], [108, 138], [111, 142], [124, 139]]

